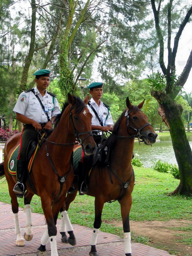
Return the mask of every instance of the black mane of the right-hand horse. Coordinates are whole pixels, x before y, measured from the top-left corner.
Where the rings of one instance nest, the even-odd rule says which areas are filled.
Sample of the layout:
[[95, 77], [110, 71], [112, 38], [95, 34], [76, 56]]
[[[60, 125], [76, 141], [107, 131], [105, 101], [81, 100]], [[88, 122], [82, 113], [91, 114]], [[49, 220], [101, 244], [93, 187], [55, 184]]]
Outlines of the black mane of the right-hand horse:
[[[139, 110], [139, 108], [138, 108], [137, 106], [132, 106], [132, 107], [133, 107], [133, 108], [132, 108], [132, 111], [137, 111], [137, 110]], [[105, 146], [111, 147], [111, 146], [113, 146], [113, 145], [115, 144], [117, 137], [114, 136], [114, 135], [117, 135], [117, 132], [118, 132], [118, 129], [119, 129], [119, 125], [120, 125], [120, 123], [121, 123], [123, 117], [125, 116], [126, 110], [127, 110], [127, 109], [125, 109], [125, 110], [123, 111], [123, 113], [120, 115], [120, 117], [118, 118], [117, 122], [116, 122], [115, 125], [113, 126], [112, 134], [109, 136], [108, 139], [106, 139], [106, 140], [104, 141], [103, 148], [104, 148]], [[114, 134], [114, 135], [113, 135], [113, 134]]]

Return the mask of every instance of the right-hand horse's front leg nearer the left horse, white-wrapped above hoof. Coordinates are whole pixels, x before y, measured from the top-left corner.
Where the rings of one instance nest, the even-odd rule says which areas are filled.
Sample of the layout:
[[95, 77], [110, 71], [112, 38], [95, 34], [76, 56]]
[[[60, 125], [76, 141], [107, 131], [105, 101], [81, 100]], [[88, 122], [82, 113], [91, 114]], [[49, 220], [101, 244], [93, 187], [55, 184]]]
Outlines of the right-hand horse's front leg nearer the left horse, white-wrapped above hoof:
[[104, 202], [101, 201], [101, 199], [95, 198], [95, 221], [94, 221], [94, 228], [93, 228], [93, 233], [91, 236], [90, 240], [90, 245], [91, 245], [91, 250], [89, 252], [90, 256], [98, 256], [99, 254], [97, 253], [96, 250], [96, 243], [97, 243], [97, 236], [99, 233], [99, 228], [101, 227], [101, 214], [103, 211], [103, 205]]

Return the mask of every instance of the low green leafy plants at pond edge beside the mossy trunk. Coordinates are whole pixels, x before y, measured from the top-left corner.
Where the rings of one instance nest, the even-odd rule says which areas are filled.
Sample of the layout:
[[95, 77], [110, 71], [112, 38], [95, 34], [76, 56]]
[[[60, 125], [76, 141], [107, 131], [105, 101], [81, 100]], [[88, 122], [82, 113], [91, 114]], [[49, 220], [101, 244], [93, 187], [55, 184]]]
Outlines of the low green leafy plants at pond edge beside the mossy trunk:
[[179, 169], [176, 164], [173, 165], [168, 162], [158, 160], [156, 163], [153, 162], [153, 169], [160, 173], [171, 173], [176, 179], [180, 178]]

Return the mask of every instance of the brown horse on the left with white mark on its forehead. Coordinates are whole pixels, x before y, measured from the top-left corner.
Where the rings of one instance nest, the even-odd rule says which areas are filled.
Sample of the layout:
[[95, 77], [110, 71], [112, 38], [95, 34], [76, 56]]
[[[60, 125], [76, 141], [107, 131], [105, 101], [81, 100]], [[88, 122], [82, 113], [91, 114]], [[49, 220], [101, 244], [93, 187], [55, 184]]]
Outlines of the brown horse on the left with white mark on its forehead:
[[[68, 104], [57, 118], [56, 128], [37, 152], [32, 171], [26, 182], [27, 192], [24, 197], [25, 212], [27, 216], [27, 228], [24, 234], [25, 240], [32, 239], [32, 222], [30, 201], [34, 194], [41, 198], [42, 208], [47, 222], [47, 230], [41, 239], [41, 246], [37, 255], [45, 255], [45, 244], [50, 239], [51, 256], [58, 256], [56, 243], [56, 222], [58, 213], [65, 203], [66, 192], [73, 181], [73, 168], [71, 155], [75, 139], [82, 144], [85, 154], [93, 154], [96, 144], [91, 132], [91, 114], [87, 109], [89, 97], [84, 102], [79, 97], [68, 94]], [[85, 104], [84, 104], [85, 103]], [[11, 197], [12, 211], [14, 213], [16, 245], [24, 246], [21, 236], [17, 197], [13, 192], [16, 176], [9, 174], [7, 170], [10, 154], [19, 145], [20, 134], [16, 134], [7, 140], [4, 152], [4, 169], [0, 168], [0, 176], [5, 174], [9, 194]], [[74, 238], [73, 229], [70, 233]]]

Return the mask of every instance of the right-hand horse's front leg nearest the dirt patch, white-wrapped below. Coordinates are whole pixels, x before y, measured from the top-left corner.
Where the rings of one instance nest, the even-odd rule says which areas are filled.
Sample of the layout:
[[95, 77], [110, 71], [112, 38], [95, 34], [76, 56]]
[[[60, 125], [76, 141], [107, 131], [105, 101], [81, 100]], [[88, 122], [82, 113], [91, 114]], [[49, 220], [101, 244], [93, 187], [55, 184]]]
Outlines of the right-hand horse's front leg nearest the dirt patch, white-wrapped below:
[[123, 231], [124, 231], [124, 253], [126, 256], [131, 256], [131, 232], [129, 223], [129, 213], [131, 210], [132, 196], [128, 198], [122, 198], [120, 201], [121, 217], [123, 219]]

